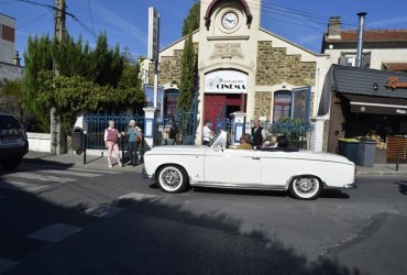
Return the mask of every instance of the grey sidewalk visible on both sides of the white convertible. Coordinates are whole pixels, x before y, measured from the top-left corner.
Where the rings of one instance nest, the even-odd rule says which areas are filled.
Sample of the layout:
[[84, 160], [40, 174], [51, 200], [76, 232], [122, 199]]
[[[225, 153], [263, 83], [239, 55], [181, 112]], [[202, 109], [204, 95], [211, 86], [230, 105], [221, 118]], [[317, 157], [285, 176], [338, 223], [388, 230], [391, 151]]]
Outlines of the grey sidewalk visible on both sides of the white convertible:
[[[84, 164], [84, 155], [76, 154], [64, 154], [64, 155], [50, 155], [47, 153], [29, 152], [24, 156], [24, 162], [42, 162], [43, 164], [52, 165], [65, 165], [77, 168], [89, 168], [89, 169], [112, 169], [123, 172], [135, 172], [141, 173], [143, 164], [135, 167], [124, 166], [119, 167], [114, 165], [113, 168], [108, 168], [107, 156], [87, 155], [86, 164]], [[113, 158], [116, 163], [116, 158]], [[356, 166], [358, 176], [391, 176], [391, 175], [406, 175], [407, 176], [407, 164], [400, 164], [398, 170], [396, 170], [396, 164], [375, 164], [374, 167]]]

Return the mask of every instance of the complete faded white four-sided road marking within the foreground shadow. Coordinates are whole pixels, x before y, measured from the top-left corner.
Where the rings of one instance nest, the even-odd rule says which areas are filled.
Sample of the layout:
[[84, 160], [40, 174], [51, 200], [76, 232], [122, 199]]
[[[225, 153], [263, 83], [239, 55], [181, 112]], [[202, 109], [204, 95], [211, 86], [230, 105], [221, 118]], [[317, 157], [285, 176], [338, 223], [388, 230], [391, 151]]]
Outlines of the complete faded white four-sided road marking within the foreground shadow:
[[41, 240], [51, 243], [57, 243], [62, 240], [68, 238], [72, 234], [79, 232], [81, 228], [65, 224], [65, 223], [53, 223], [48, 227], [45, 227], [34, 233], [30, 234], [28, 238]]

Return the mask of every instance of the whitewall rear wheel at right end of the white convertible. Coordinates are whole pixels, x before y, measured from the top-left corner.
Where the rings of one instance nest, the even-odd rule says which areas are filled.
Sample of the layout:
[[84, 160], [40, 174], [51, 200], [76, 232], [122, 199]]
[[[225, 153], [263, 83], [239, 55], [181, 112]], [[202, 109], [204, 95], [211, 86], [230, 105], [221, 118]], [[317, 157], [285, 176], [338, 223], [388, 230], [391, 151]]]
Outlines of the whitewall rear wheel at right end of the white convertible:
[[317, 199], [321, 190], [321, 182], [314, 176], [297, 177], [289, 186], [289, 191], [296, 199]]

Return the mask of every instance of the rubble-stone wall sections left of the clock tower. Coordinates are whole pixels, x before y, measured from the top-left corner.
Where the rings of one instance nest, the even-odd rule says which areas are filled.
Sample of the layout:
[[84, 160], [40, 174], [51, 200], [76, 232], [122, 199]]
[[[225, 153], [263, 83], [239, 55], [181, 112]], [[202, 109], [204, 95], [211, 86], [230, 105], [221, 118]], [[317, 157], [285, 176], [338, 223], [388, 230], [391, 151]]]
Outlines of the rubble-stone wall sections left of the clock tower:
[[[194, 43], [195, 53], [198, 54], [198, 43]], [[158, 85], [169, 84], [180, 79], [180, 58], [183, 56], [183, 50], [175, 50], [173, 56], [161, 56]], [[154, 63], [148, 65], [148, 84], [154, 82]]]

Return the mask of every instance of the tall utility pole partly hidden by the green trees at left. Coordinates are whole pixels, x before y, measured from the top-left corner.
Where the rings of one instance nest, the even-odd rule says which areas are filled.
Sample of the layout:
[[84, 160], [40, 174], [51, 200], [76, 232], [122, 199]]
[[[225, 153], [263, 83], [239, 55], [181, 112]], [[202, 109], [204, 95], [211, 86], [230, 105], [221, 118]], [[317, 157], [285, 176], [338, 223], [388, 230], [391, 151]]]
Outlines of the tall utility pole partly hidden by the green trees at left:
[[[55, 26], [54, 37], [62, 42], [66, 33], [66, 3], [65, 0], [55, 0]], [[58, 68], [54, 63], [54, 75], [59, 75]], [[65, 134], [61, 123], [61, 112], [55, 107], [51, 108], [51, 154], [59, 155], [66, 153]]]

